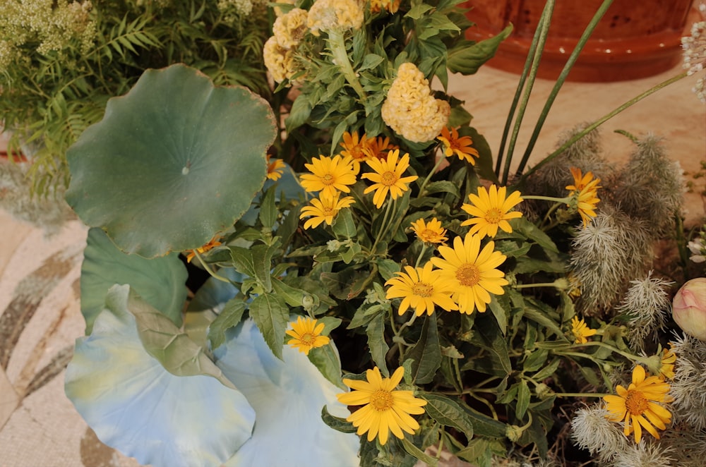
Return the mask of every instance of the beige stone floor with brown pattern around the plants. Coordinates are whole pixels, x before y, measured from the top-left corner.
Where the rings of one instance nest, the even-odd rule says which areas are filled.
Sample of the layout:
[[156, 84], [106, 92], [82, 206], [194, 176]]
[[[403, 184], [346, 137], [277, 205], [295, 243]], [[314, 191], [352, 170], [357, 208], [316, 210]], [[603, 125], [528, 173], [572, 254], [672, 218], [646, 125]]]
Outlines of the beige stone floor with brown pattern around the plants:
[[[558, 95], [537, 156], [549, 152], [561, 131], [592, 121], [680, 68], [623, 83], [567, 83]], [[517, 77], [485, 67], [477, 75], [452, 77], [450, 92], [465, 99], [474, 126], [496, 151]], [[689, 78], [648, 97], [604, 125], [606, 148], [616, 161], [633, 134], [652, 131], [666, 138], [669, 154], [693, 173], [706, 159], [706, 106], [690, 92]], [[539, 80], [527, 121], [534, 121], [551, 82]], [[527, 131], [520, 134], [520, 145]], [[1, 195], [1, 193], [0, 193]], [[687, 194], [688, 223], [705, 216], [704, 201]], [[72, 221], [51, 238], [35, 226], [0, 211], [0, 467], [136, 466], [105, 447], [64, 396], [63, 368], [83, 333], [78, 277], [85, 228]]]

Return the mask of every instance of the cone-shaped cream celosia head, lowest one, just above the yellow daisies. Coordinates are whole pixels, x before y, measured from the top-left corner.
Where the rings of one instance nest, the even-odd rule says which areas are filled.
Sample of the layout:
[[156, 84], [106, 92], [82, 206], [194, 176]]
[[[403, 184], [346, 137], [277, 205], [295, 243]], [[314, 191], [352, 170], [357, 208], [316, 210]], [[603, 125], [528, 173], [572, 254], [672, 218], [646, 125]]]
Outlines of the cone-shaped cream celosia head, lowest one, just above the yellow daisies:
[[383, 121], [409, 141], [426, 142], [441, 133], [450, 113], [448, 102], [431, 95], [424, 73], [414, 63], [402, 63], [381, 108]]

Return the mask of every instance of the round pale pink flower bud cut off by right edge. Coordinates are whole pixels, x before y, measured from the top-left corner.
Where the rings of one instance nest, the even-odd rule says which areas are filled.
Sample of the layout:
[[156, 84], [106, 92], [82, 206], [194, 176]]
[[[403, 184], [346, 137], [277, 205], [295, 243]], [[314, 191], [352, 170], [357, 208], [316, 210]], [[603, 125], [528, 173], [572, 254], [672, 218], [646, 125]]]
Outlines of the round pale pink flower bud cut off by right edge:
[[686, 334], [706, 341], [706, 277], [691, 279], [681, 286], [671, 313]]

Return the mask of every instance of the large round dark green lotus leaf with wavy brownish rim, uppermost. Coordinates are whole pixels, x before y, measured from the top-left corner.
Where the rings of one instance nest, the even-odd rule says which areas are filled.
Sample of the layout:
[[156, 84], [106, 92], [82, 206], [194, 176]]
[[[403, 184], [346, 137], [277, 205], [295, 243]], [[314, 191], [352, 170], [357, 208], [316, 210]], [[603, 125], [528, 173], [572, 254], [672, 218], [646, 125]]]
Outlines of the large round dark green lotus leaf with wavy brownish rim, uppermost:
[[66, 200], [126, 253], [198, 248], [246, 212], [274, 138], [270, 106], [246, 88], [148, 70], [69, 148]]

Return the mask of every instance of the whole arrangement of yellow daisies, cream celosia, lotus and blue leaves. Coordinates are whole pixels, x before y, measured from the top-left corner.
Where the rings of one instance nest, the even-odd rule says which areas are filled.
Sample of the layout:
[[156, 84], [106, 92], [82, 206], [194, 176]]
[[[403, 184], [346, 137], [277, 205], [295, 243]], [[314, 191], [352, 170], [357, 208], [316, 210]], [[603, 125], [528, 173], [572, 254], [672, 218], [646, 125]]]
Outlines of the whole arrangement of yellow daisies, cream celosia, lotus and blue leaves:
[[702, 459], [702, 293], [683, 334], [652, 269], [681, 171], [652, 135], [611, 164], [597, 122], [510, 175], [516, 134], [493, 157], [430, 85], [509, 33], [465, 40], [459, 3], [276, 4], [268, 100], [148, 70], [71, 146], [92, 229], [66, 394], [103, 442], [154, 466]]

